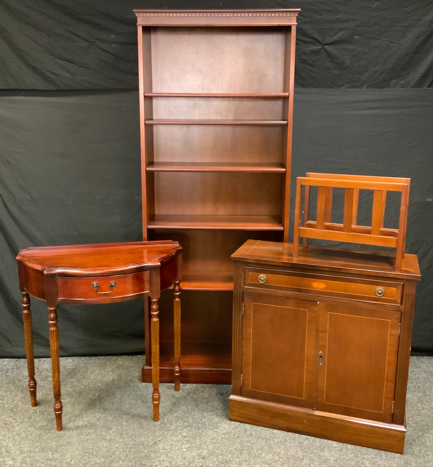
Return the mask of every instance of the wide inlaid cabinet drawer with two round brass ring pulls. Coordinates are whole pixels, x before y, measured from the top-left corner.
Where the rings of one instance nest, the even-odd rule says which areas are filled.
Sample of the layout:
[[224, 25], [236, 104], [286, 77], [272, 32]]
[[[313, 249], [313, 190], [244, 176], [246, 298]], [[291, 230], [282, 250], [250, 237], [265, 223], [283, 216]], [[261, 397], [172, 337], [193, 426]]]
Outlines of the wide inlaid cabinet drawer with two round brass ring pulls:
[[369, 302], [400, 304], [403, 283], [356, 279], [279, 271], [275, 269], [245, 268], [245, 286], [261, 289], [286, 290], [298, 293], [357, 298]]

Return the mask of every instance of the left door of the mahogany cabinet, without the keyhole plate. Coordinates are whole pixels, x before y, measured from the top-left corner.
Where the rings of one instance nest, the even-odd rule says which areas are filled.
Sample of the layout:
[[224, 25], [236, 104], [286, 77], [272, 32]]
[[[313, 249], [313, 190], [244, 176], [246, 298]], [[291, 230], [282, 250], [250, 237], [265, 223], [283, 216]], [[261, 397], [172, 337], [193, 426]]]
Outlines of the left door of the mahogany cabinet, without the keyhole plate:
[[242, 395], [313, 408], [317, 302], [244, 294]]

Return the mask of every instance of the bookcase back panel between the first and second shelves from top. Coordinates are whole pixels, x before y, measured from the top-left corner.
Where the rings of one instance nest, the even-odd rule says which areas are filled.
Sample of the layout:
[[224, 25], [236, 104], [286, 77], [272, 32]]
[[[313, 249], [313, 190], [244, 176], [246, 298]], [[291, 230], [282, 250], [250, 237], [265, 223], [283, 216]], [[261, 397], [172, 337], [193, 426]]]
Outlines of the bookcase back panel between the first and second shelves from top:
[[283, 99], [154, 98], [154, 119], [284, 120]]

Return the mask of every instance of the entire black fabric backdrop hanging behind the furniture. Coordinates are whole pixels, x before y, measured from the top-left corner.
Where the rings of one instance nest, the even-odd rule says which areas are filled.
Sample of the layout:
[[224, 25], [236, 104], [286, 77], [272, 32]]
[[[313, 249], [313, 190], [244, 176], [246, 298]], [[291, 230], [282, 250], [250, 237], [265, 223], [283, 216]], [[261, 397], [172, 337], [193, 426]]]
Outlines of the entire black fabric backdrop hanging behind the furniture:
[[[422, 272], [412, 348], [433, 351], [430, 1], [3, 0], [0, 356], [25, 354], [14, 261], [20, 248], [140, 240], [133, 7], [302, 9], [292, 187], [306, 171], [411, 177], [407, 251], [418, 255]], [[35, 354], [48, 356], [45, 304], [32, 304]], [[60, 306], [61, 354], [142, 352], [143, 325], [140, 300]]]

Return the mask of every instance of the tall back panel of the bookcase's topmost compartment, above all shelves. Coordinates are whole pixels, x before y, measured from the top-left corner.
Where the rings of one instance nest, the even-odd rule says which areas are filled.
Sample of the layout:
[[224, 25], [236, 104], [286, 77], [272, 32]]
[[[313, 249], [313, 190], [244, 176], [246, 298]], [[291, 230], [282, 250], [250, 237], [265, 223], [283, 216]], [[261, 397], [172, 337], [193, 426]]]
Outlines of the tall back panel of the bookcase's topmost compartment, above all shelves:
[[284, 28], [152, 28], [152, 92], [283, 92]]

